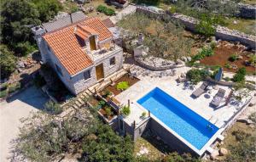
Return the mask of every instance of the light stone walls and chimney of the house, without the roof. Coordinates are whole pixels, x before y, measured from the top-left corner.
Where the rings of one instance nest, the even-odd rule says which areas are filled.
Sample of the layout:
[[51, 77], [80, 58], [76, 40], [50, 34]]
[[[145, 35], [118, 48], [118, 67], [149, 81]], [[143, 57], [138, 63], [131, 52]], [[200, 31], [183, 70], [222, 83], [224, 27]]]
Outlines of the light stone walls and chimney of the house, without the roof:
[[[56, 58], [53, 50], [48, 46], [47, 42], [44, 41], [44, 38], [42, 37], [45, 34], [44, 28], [37, 26], [37, 28], [32, 28], [32, 32], [35, 35], [34, 38], [38, 43], [43, 64], [49, 64], [53, 68], [53, 70], [55, 70], [55, 72], [64, 83], [64, 85], [67, 87], [67, 89], [75, 95], [97, 83], [96, 65], [103, 64], [104, 77], [107, 77], [108, 75], [113, 74], [117, 70], [120, 70], [123, 66], [123, 49], [115, 45], [114, 49], [108, 52], [108, 55], [105, 55], [102, 59], [93, 59], [93, 65], [79, 71], [79, 73], [75, 75], [70, 75], [61, 64], [59, 59]], [[98, 42], [98, 36], [96, 36], [96, 47], [109, 48], [110, 42], [111, 39], [105, 40], [103, 42]], [[88, 53], [90, 57], [93, 57], [93, 53], [90, 52], [90, 42], [86, 41], [85, 43], [85, 52]], [[113, 57], [115, 58], [115, 64], [110, 65], [110, 59]], [[57, 67], [59, 68], [59, 70], [57, 70]], [[90, 70], [90, 78], [84, 80], [84, 72], [87, 70]]]

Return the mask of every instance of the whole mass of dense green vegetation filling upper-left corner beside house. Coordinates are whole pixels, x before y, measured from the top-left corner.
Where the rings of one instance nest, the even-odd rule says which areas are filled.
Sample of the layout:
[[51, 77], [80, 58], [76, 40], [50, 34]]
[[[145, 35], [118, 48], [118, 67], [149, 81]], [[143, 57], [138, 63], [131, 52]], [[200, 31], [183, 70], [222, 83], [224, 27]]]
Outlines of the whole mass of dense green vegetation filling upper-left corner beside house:
[[1, 2], [1, 77], [15, 70], [16, 57], [37, 49], [31, 27], [50, 20], [61, 10], [57, 0], [3, 0]]

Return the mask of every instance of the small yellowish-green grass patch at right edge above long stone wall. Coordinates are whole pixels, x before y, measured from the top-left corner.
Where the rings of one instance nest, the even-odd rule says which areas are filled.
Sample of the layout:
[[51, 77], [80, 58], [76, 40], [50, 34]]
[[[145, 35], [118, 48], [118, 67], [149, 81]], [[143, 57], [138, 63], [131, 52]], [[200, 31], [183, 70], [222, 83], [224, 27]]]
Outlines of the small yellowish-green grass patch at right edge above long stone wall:
[[[237, 24], [234, 24], [236, 21]], [[241, 18], [229, 18], [225, 20], [227, 23], [226, 27], [231, 30], [241, 31], [246, 34], [254, 35], [256, 33], [256, 21], [255, 20], [246, 20]]]

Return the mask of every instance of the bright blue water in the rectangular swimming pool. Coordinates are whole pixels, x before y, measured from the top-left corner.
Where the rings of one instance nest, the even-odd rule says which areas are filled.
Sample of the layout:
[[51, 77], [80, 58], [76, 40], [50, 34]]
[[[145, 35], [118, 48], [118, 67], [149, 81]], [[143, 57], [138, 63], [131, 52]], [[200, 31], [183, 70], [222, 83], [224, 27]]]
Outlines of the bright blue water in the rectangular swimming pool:
[[137, 103], [199, 150], [218, 131], [217, 126], [212, 125], [158, 87], [148, 92]]

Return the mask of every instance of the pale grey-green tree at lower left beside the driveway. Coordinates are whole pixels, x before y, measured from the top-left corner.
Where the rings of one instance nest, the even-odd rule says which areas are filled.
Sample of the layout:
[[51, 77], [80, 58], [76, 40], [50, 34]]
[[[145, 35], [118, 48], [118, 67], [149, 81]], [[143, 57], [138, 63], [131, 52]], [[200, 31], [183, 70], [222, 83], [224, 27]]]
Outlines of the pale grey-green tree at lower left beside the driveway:
[[76, 154], [79, 142], [97, 126], [88, 109], [73, 109], [63, 117], [38, 111], [22, 122], [13, 158], [18, 154], [29, 161], [55, 161], [61, 154]]

